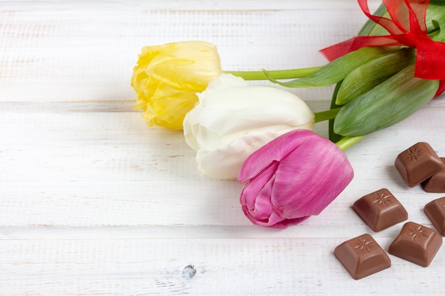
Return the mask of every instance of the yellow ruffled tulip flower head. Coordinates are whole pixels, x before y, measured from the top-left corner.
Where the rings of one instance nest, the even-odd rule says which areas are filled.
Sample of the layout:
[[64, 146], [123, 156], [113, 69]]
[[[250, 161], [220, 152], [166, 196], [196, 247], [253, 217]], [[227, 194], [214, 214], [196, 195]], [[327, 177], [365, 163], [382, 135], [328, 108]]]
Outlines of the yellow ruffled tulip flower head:
[[142, 48], [133, 70], [134, 109], [144, 110], [149, 126], [183, 129], [184, 116], [198, 102], [210, 80], [221, 74], [215, 45], [183, 41]]

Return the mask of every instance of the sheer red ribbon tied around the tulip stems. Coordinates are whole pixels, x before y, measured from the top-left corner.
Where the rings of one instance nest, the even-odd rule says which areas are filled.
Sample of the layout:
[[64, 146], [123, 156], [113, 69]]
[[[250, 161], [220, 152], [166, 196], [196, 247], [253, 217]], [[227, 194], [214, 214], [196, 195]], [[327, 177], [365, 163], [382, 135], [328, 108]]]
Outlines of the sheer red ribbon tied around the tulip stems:
[[390, 35], [357, 36], [321, 50], [328, 60], [335, 60], [347, 53], [368, 46], [405, 45], [416, 48], [414, 77], [441, 80], [438, 96], [445, 90], [445, 43], [431, 40], [427, 35], [425, 16], [429, 0], [382, 0], [390, 18], [373, 16], [367, 0], [358, 0], [362, 11]]

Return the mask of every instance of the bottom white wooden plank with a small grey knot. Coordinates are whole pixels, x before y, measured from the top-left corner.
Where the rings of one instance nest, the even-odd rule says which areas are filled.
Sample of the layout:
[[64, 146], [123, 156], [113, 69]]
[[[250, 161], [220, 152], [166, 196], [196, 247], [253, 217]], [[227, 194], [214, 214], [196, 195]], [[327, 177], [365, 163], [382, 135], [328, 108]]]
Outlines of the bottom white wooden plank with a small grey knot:
[[[390, 240], [377, 242], [386, 247]], [[338, 243], [341, 239], [1, 241], [0, 294], [442, 293], [444, 252], [428, 269], [392, 257], [391, 268], [355, 281], [332, 254]], [[196, 268], [193, 278], [183, 276], [187, 265]]]

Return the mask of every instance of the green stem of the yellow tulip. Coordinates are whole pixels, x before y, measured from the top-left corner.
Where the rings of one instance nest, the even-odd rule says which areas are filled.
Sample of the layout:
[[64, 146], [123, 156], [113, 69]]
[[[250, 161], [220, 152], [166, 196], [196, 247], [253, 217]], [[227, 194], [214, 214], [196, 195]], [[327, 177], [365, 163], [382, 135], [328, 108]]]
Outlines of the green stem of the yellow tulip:
[[[313, 74], [320, 70], [321, 67], [309, 67], [291, 70], [273, 70], [267, 71], [274, 79], [292, 79], [301, 78]], [[267, 80], [262, 71], [223, 71], [225, 74], [232, 74], [242, 77], [244, 80]]]

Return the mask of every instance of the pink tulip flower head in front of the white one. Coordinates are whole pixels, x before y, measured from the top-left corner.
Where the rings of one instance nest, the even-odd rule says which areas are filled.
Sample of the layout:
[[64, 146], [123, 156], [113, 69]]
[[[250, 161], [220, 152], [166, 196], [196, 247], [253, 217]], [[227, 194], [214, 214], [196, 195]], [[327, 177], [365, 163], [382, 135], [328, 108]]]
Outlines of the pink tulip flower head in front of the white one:
[[285, 133], [245, 161], [240, 202], [254, 224], [285, 229], [320, 214], [353, 179], [343, 150], [312, 131]]

